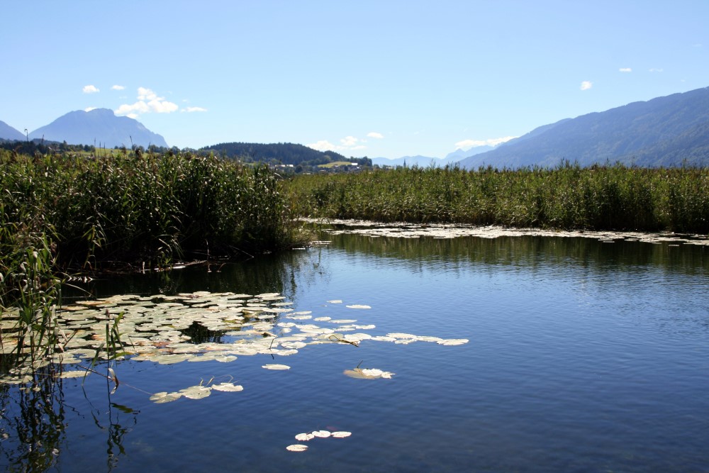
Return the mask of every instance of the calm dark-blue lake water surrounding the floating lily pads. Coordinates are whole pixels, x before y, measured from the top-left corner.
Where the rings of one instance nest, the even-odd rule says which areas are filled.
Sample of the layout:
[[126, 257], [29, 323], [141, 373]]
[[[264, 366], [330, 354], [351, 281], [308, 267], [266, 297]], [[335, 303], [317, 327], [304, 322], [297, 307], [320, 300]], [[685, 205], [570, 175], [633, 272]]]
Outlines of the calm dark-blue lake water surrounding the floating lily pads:
[[[23, 393], [0, 386], [0, 467], [709, 472], [709, 247], [531, 236], [323, 238], [332, 243], [87, 289], [99, 297], [279, 292], [294, 311], [312, 312], [307, 323], [355, 319], [375, 325], [357, 330], [374, 337], [469, 343], [362, 340], [232, 362], [128, 360], [115, 367], [114, 394], [95, 375]], [[298, 322], [286, 316], [277, 321]], [[291, 369], [262, 368], [269, 363]], [[358, 365], [394, 375], [343, 374]], [[211, 379], [244, 390], [150, 401]], [[314, 430], [352, 435], [294, 439]], [[43, 443], [30, 451], [38, 437]], [[308, 450], [286, 450], [297, 443]]]

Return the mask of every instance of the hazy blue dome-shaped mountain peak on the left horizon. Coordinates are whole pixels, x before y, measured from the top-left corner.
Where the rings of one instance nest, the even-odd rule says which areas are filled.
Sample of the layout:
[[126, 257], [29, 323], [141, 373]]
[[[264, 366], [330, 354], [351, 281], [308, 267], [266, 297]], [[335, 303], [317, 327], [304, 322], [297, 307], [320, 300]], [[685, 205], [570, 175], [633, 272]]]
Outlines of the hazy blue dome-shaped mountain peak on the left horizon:
[[161, 135], [152, 133], [133, 118], [116, 116], [108, 108], [94, 108], [91, 111], [77, 110], [60, 116], [49, 125], [30, 133], [30, 139], [43, 138], [52, 141], [66, 141], [70, 145], [105, 145], [106, 148], [140, 145], [145, 148], [155, 145], [167, 148]]

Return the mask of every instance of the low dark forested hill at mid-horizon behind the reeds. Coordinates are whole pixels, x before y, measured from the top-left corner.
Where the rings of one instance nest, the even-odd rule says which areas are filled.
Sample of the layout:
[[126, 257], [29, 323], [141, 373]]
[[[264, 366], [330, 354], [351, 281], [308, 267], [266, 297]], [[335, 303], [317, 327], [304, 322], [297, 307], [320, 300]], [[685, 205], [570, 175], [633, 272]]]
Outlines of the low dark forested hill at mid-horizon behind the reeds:
[[333, 161], [350, 161], [334, 151], [317, 151], [295, 143], [220, 143], [202, 149], [218, 152], [221, 157], [245, 162], [271, 162], [281, 165], [325, 165]]

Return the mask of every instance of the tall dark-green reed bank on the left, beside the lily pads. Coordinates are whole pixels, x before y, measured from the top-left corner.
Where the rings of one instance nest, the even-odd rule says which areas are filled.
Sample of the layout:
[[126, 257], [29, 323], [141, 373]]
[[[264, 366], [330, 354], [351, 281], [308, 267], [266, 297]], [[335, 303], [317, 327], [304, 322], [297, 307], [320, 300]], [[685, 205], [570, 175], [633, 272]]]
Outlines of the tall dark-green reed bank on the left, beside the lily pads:
[[19, 357], [57, 344], [63, 274], [247, 257], [296, 238], [273, 172], [214, 157], [0, 150], [0, 190], [0, 352]]

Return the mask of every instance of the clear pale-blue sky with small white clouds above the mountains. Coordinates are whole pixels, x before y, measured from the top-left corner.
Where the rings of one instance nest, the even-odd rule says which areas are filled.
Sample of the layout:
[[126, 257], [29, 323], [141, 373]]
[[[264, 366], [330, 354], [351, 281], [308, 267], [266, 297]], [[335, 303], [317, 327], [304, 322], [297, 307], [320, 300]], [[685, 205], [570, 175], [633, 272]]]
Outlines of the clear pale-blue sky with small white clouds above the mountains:
[[709, 86], [709, 1], [11, 1], [0, 120], [443, 157]]

